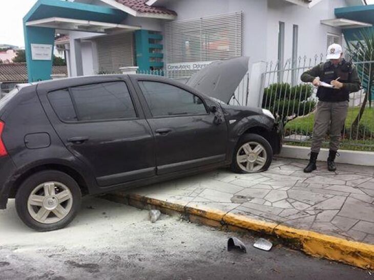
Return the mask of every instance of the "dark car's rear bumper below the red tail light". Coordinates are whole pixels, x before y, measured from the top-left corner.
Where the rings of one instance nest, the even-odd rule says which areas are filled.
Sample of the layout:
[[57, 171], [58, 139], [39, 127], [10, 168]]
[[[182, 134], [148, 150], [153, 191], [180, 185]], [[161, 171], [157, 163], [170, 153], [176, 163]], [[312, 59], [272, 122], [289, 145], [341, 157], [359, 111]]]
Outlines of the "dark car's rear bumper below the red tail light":
[[0, 209], [7, 208], [11, 178], [13, 177], [15, 166], [11, 158], [0, 158]]

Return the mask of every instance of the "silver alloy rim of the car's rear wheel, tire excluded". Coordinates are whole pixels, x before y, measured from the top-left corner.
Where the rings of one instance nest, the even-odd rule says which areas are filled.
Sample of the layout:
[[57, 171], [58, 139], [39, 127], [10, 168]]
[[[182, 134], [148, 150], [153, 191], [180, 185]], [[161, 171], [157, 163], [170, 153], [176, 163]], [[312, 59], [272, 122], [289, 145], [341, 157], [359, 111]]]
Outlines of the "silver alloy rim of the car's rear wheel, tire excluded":
[[30, 216], [41, 224], [54, 224], [68, 216], [73, 206], [70, 189], [59, 182], [45, 182], [35, 187], [27, 201]]

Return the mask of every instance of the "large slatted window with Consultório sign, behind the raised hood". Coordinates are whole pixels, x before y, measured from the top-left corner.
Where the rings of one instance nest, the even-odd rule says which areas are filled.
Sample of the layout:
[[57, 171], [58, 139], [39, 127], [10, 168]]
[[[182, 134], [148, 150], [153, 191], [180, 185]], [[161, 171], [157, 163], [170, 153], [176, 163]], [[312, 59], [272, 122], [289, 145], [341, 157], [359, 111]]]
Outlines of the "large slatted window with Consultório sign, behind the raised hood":
[[180, 72], [191, 76], [206, 64], [193, 62], [241, 56], [242, 17], [236, 12], [165, 24], [168, 76], [175, 78]]

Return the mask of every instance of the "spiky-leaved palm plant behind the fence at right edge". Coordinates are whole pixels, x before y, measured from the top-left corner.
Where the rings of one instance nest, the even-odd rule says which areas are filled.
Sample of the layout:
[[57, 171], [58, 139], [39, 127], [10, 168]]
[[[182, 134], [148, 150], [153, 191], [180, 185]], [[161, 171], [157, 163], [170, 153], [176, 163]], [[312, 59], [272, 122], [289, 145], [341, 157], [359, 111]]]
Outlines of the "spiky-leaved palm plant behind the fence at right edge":
[[352, 123], [352, 127], [357, 127], [364, 114], [367, 101], [371, 107], [374, 94], [374, 31], [361, 31], [360, 37], [356, 35], [356, 41], [348, 41], [348, 52], [353, 62], [356, 62], [357, 72], [365, 90], [361, 109]]

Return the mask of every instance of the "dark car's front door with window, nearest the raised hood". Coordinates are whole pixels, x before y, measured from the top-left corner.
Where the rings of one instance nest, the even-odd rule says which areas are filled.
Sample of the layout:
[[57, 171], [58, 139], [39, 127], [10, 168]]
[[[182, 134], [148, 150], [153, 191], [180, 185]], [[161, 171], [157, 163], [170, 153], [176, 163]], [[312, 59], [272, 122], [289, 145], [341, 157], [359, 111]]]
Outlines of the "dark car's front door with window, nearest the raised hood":
[[[225, 122], [215, 121], [205, 100], [164, 80], [136, 80], [156, 140], [157, 174], [224, 162]], [[148, 115], [147, 115], [148, 114]]]

